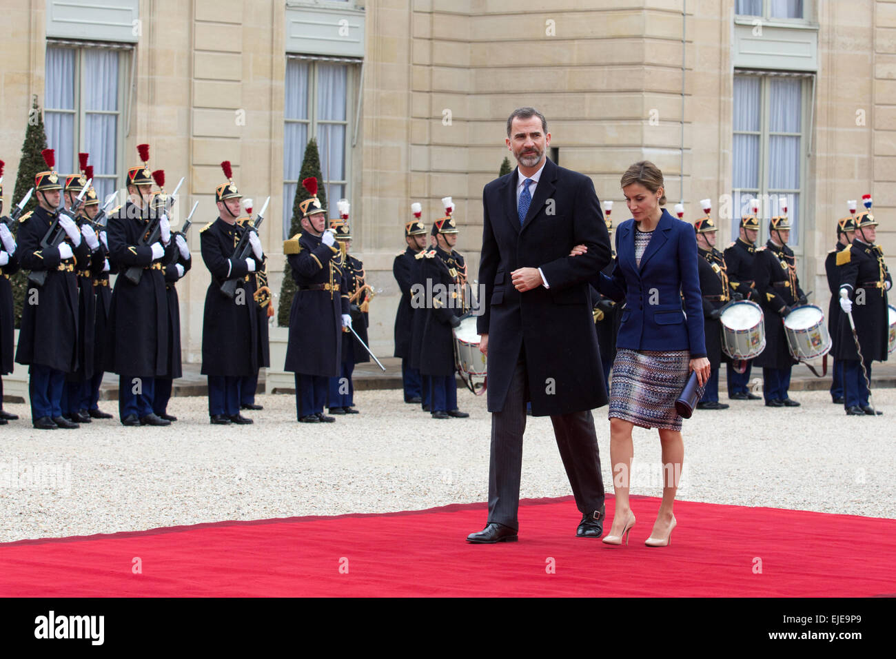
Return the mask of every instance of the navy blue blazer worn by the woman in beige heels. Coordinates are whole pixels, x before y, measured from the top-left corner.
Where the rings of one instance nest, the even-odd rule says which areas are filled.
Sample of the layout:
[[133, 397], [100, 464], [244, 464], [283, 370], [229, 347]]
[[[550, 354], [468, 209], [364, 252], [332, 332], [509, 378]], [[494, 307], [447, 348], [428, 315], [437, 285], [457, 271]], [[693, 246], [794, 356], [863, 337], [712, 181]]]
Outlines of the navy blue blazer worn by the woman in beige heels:
[[616, 349], [686, 350], [691, 359], [706, 357], [694, 227], [663, 209], [640, 267], [634, 260], [634, 231], [634, 220], [619, 225], [613, 274], [592, 280], [607, 297], [625, 299]]

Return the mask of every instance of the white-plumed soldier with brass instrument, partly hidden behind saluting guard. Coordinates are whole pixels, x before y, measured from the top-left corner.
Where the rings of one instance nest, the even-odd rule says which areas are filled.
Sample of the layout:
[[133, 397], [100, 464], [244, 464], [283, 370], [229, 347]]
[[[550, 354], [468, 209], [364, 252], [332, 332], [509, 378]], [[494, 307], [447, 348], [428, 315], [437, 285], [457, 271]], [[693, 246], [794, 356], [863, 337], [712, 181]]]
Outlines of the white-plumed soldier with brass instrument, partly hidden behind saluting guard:
[[[342, 263], [343, 283], [349, 294], [351, 327], [361, 337], [361, 341], [368, 345], [367, 309], [370, 304], [370, 287], [366, 283], [364, 264], [349, 253], [351, 248], [349, 202], [340, 199], [336, 202], [336, 206], [339, 208], [340, 219], [331, 220], [330, 229], [336, 234], [336, 241], [340, 246], [339, 258]], [[370, 361], [370, 357], [348, 327], [342, 328], [341, 356], [340, 375], [330, 378], [327, 407], [330, 408], [331, 414], [358, 414], [358, 410], [355, 409], [355, 385], [351, 381], [351, 375], [356, 364]]]

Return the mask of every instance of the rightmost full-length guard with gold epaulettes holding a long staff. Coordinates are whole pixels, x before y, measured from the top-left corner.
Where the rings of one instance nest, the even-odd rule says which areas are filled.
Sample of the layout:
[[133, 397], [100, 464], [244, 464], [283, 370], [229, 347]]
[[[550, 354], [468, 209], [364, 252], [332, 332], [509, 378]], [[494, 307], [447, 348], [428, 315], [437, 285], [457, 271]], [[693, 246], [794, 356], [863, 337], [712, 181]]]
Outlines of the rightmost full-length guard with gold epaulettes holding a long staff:
[[[856, 217], [856, 238], [837, 255], [840, 307], [844, 313], [840, 316], [840, 342], [835, 356], [844, 360], [846, 413], [874, 416], [868, 400], [871, 362], [887, 360], [890, 326], [887, 291], [892, 287], [892, 277], [883, 263], [883, 249], [874, 245], [877, 221], [871, 213], [871, 195], [863, 195], [862, 202], [866, 211]], [[851, 337], [849, 314], [856, 325], [859, 350], [856, 339]]]

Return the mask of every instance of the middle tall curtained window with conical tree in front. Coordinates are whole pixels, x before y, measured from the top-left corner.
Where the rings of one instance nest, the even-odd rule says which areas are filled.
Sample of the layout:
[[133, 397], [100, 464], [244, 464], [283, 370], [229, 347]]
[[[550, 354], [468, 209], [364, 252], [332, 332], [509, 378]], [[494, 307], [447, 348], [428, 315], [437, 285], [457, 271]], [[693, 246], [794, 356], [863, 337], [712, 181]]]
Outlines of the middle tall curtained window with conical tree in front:
[[[283, 132], [283, 236], [289, 238], [292, 204], [311, 137], [317, 138], [327, 204], [346, 197], [349, 181], [351, 65], [290, 57], [286, 66]], [[335, 215], [333, 215], [335, 217]]]

